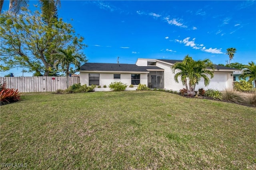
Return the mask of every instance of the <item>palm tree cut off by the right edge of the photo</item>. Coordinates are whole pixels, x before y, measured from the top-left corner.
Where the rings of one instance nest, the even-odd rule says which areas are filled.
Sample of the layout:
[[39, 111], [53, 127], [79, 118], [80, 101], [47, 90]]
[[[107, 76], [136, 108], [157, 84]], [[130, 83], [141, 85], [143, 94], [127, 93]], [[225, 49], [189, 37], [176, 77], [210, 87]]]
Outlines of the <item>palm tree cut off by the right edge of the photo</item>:
[[248, 65], [244, 66], [242, 74], [238, 77], [239, 79], [245, 79], [249, 77], [249, 81], [254, 81], [254, 86], [256, 87], [256, 65], [253, 61], [249, 62]]

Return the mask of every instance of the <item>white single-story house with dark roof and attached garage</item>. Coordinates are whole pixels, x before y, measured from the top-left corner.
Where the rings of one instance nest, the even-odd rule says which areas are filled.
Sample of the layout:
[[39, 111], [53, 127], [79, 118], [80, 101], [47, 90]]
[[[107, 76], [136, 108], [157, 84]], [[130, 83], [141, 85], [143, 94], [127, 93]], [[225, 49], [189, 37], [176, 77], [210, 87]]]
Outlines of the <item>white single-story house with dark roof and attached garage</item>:
[[[154, 89], [170, 89], [179, 91], [184, 88], [180, 79], [179, 83], [174, 81], [172, 65], [182, 60], [170, 59], [137, 59], [135, 64], [119, 63], [85, 63], [80, 68], [80, 83], [87, 85], [109, 85], [114, 81], [121, 81], [127, 85], [138, 86], [139, 83], [146, 84]], [[216, 65], [214, 77], [210, 84], [205, 87], [204, 79], [196, 85], [196, 90], [233, 88], [233, 71], [239, 69]]]

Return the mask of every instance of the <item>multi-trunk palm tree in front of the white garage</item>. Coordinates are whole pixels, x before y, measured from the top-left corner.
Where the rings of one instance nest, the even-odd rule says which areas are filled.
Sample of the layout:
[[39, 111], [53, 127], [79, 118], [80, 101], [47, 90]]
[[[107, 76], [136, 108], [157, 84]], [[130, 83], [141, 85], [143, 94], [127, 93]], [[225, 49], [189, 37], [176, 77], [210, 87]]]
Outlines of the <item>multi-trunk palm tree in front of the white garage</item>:
[[196, 84], [201, 78], [204, 78], [205, 86], [209, 85], [210, 79], [207, 75], [212, 78], [214, 74], [208, 68], [214, 70], [214, 65], [210, 59], [195, 61], [189, 55], [186, 55], [182, 62], [177, 62], [172, 66], [173, 73], [178, 70], [174, 75], [174, 80], [178, 83], [178, 77], [181, 77], [182, 84], [186, 86], [188, 96], [194, 95]]

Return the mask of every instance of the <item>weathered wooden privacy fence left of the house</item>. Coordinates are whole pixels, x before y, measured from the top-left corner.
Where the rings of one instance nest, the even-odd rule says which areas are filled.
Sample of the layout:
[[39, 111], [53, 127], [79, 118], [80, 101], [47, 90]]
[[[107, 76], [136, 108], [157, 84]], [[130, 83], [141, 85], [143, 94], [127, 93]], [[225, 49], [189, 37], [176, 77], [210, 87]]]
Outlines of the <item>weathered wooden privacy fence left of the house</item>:
[[[67, 77], [0, 77], [0, 82], [6, 82], [7, 88], [26, 92], [53, 92], [67, 88]], [[69, 86], [80, 83], [80, 77], [68, 77]]]

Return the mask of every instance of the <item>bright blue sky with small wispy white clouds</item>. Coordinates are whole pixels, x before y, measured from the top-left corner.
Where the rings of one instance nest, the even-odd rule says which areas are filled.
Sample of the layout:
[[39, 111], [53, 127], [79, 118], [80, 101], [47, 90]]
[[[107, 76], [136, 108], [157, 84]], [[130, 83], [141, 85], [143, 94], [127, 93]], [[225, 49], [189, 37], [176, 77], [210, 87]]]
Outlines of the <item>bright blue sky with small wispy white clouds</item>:
[[[30, 7], [37, 2], [30, 0]], [[117, 63], [120, 57], [120, 63], [135, 63], [188, 54], [225, 64], [226, 49], [235, 47], [232, 62], [248, 64], [256, 62], [255, 9], [255, 1], [61, 0], [58, 17], [85, 38], [88, 62]], [[17, 69], [12, 72], [22, 76]]]

